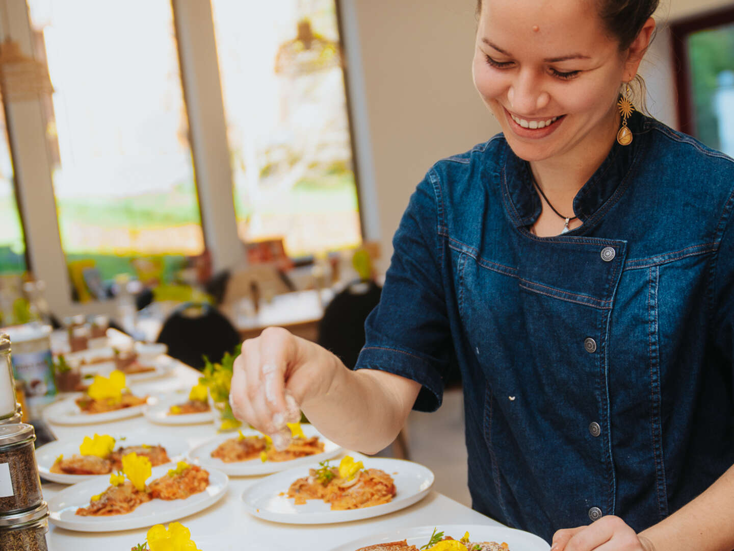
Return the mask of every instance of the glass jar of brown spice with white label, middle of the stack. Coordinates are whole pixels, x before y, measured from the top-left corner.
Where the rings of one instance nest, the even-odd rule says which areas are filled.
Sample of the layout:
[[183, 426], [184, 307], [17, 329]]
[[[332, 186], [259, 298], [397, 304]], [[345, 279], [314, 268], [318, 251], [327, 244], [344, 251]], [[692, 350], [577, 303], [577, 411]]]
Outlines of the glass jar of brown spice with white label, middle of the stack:
[[43, 502], [33, 427], [0, 425], [0, 516], [27, 511]]

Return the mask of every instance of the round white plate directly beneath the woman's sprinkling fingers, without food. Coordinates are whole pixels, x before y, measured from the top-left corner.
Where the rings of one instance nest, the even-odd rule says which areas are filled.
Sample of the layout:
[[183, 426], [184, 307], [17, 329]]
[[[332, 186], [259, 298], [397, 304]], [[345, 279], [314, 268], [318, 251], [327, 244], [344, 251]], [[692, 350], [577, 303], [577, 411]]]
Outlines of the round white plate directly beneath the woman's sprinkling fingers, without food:
[[[308, 467], [313, 467], [313, 465], [318, 464], [319, 461], [331, 459], [341, 453], [341, 446], [335, 444], [331, 440], [325, 439], [324, 436], [321, 436], [319, 431], [316, 431], [316, 428], [314, 428], [313, 425], [301, 425], [301, 428], [306, 436], [319, 436], [321, 442], [324, 442], [323, 453], [307, 455], [306, 457], [291, 459], [291, 461], [265, 461], [263, 463], [260, 458], [255, 458], [250, 459], [249, 461], [225, 463], [219, 458], [211, 457], [211, 452], [213, 452], [217, 446], [225, 440], [236, 438], [238, 436], [237, 433], [228, 433], [226, 435], [222, 434], [217, 436], [216, 438], [208, 440], [203, 444], [199, 444], [196, 447], [192, 447], [192, 449], [189, 450], [188, 455], [189, 458], [196, 461], [198, 464], [214, 467], [214, 469], [226, 472], [229, 476], [252, 476], [269, 475], [272, 472], [285, 471], [286, 469], [294, 469], [295, 467], [302, 467], [304, 465], [308, 471]], [[242, 434], [244, 434], [244, 436], [261, 436], [261, 433], [253, 431], [252, 429], [243, 429]]]

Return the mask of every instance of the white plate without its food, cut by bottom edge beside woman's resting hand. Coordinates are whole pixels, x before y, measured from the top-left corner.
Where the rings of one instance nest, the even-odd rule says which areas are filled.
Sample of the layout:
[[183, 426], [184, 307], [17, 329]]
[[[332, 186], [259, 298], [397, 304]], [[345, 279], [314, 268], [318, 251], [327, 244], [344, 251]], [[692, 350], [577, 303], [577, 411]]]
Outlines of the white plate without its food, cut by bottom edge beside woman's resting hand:
[[356, 551], [360, 547], [387, 544], [390, 541], [402, 541], [404, 539], [407, 539], [408, 545], [421, 547], [431, 539], [434, 528], [454, 539], [459, 539], [464, 536], [465, 532], [468, 532], [471, 541], [496, 541], [500, 544], [505, 541], [509, 545], [509, 551], [548, 551], [548, 548], [551, 547], [538, 536], [523, 532], [523, 530], [485, 525], [443, 525], [402, 528], [375, 536], [365, 536], [350, 541], [348, 544], [334, 547], [331, 551]]

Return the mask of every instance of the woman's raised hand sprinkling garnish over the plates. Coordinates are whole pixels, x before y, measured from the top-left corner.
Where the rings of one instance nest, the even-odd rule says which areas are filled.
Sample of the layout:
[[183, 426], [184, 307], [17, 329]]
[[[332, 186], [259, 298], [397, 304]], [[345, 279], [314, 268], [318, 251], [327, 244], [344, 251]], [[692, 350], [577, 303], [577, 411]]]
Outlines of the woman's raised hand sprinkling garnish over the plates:
[[234, 362], [230, 403], [238, 419], [266, 434], [301, 418], [300, 408], [328, 392], [341, 361], [280, 327], [242, 343]]

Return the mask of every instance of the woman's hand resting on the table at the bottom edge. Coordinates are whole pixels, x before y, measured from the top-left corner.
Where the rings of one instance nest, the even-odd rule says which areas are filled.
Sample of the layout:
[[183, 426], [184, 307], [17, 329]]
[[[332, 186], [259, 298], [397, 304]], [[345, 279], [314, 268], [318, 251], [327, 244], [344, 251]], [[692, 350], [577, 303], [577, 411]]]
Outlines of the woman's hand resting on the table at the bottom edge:
[[652, 542], [638, 536], [619, 516], [603, 516], [588, 526], [558, 530], [551, 551], [655, 551]]

